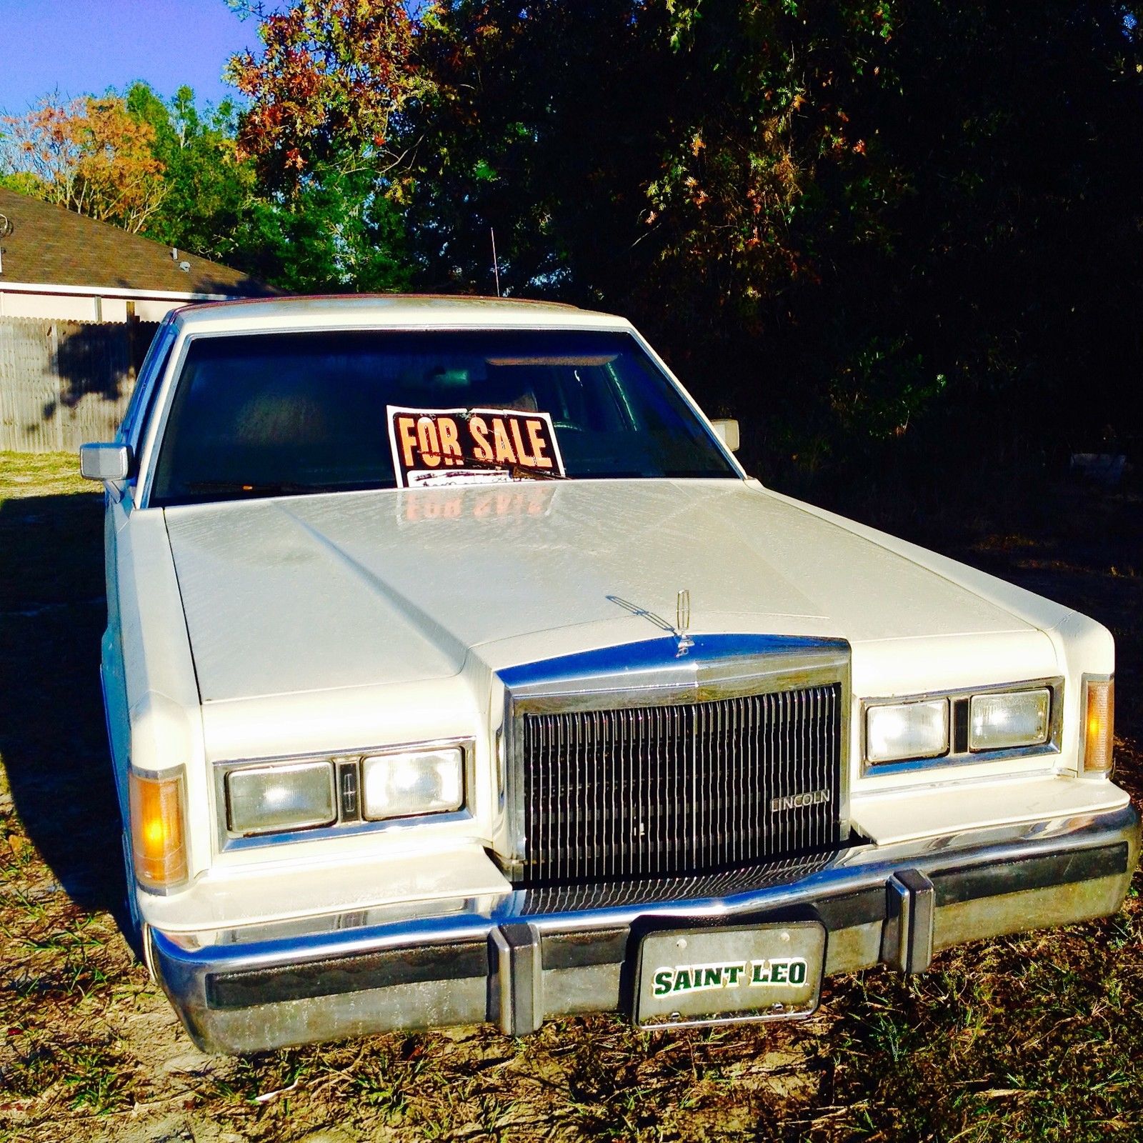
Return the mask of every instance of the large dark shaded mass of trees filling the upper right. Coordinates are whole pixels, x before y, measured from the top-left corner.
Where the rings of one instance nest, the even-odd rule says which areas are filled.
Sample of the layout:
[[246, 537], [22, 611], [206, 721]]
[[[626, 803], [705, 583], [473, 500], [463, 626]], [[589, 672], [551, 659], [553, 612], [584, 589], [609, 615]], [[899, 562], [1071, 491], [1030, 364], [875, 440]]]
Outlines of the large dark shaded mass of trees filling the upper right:
[[442, 0], [401, 120], [418, 274], [487, 293], [495, 227], [510, 293], [631, 315], [770, 477], [1113, 446], [1143, 369], [1138, 16]]

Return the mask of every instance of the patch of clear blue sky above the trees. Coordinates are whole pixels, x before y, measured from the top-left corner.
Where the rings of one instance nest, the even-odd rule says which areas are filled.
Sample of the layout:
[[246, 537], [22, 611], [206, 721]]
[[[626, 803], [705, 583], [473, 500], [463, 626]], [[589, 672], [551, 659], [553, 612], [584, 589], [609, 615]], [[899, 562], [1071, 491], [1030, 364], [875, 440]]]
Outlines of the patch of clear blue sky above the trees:
[[257, 24], [224, 0], [0, 0], [0, 111], [146, 80], [163, 97], [187, 83], [199, 101], [233, 95], [226, 59], [258, 45]]

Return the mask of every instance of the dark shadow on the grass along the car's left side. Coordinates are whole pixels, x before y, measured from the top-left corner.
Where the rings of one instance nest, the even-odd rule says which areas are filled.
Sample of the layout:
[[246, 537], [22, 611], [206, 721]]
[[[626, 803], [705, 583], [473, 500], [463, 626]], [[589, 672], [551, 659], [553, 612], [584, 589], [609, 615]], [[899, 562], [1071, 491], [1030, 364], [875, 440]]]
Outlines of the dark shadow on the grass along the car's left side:
[[121, 920], [102, 549], [99, 496], [0, 502], [0, 756], [29, 838], [69, 896]]

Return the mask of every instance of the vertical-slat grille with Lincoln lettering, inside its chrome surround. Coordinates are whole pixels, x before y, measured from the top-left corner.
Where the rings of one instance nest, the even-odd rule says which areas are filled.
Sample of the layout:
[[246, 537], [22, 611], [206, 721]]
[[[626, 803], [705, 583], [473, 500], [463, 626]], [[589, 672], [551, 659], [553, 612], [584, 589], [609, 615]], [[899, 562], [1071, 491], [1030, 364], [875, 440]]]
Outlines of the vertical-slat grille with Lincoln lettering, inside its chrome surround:
[[840, 682], [525, 713], [520, 880], [701, 873], [836, 846], [841, 727]]

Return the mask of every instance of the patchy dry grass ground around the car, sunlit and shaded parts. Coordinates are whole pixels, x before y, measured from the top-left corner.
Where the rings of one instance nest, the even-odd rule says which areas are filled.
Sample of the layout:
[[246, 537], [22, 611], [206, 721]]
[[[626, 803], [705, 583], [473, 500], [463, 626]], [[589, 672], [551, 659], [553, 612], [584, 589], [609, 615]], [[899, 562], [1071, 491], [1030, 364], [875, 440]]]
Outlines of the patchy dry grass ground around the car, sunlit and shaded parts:
[[[101, 506], [74, 470], [0, 454], [0, 1141], [1143, 1137], [1138, 877], [1117, 917], [953, 950], [921, 977], [833, 978], [798, 1024], [649, 1034], [597, 1016], [523, 1040], [200, 1055], [117, 920]], [[1112, 628], [1120, 780], [1138, 794], [1143, 512], [1054, 497], [1025, 527], [929, 517], [910, 538]]]

